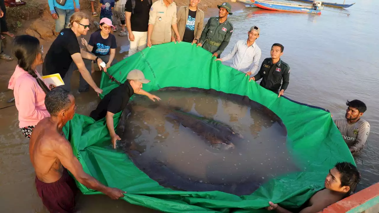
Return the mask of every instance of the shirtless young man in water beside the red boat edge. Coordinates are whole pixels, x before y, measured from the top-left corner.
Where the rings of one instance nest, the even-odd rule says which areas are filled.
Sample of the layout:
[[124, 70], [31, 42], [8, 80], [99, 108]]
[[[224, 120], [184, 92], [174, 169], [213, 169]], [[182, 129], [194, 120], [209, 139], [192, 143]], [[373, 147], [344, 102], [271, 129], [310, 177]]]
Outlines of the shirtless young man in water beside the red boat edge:
[[[300, 213], [316, 213], [342, 200], [356, 189], [359, 180], [360, 174], [356, 166], [348, 162], [336, 163], [326, 176], [325, 188], [305, 202], [300, 207]], [[291, 211], [271, 201], [268, 204], [270, 206], [266, 209], [269, 211], [276, 210], [279, 213], [291, 213]]]

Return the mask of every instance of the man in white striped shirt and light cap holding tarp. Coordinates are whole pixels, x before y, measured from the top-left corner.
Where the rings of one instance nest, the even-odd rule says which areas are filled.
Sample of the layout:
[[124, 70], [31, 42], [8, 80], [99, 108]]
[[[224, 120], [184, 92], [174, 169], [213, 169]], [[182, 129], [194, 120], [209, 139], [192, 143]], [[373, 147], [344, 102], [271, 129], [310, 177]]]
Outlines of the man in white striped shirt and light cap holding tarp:
[[222, 58], [216, 59], [216, 61], [227, 61], [234, 57], [231, 67], [246, 73], [246, 75], [253, 76], [258, 69], [258, 63], [261, 57], [261, 50], [255, 43], [255, 40], [259, 38], [259, 33], [259, 27], [251, 27], [247, 33], [247, 41], [237, 41], [230, 53]]

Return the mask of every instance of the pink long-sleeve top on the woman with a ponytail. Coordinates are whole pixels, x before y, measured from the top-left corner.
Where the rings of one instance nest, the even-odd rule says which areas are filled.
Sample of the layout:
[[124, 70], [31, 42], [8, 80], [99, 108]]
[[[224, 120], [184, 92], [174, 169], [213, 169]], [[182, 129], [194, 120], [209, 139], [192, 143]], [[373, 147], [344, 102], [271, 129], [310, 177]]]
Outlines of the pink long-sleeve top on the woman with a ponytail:
[[[36, 74], [41, 78], [37, 70]], [[38, 85], [36, 78], [18, 65], [9, 80], [8, 88], [13, 89], [20, 128], [37, 125], [45, 117], [50, 117], [45, 107], [45, 92]]]

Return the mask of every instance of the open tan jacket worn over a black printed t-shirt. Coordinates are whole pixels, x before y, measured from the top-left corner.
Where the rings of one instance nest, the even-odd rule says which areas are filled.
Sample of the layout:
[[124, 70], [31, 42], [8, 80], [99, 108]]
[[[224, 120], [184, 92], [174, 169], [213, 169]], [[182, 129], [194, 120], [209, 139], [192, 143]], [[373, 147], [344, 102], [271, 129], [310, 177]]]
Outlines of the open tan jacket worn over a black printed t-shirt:
[[[177, 12], [177, 25], [180, 38], [183, 39], [184, 31], [186, 30], [186, 24], [188, 19], [189, 5], [181, 6]], [[195, 17], [195, 30], [194, 39], [200, 40], [201, 33], [204, 26], [204, 12], [197, 7], [196, 17]], [[174, 30], [171, 30], [172, 36], [176, 38]]]

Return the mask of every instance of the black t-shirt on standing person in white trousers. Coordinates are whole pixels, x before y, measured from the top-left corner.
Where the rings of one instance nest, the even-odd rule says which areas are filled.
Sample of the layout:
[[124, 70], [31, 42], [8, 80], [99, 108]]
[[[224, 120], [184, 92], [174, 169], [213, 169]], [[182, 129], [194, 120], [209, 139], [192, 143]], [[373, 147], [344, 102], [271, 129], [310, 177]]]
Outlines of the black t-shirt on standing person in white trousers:
[[[136, 6], [134, 13], [132, 13], [132, 0], [128, 0], [125, 4], [125, 11], [132, 13], [130, 17], [130, 25], [132, 25], [132, 31], [147, 32], [149, 26], [149, 13], [151, 5], [149, 0], [135, 0]], [[152, 2], [152, 0], [150, 0]]]

